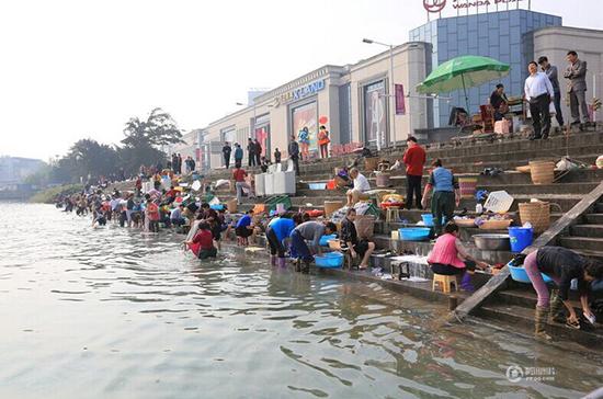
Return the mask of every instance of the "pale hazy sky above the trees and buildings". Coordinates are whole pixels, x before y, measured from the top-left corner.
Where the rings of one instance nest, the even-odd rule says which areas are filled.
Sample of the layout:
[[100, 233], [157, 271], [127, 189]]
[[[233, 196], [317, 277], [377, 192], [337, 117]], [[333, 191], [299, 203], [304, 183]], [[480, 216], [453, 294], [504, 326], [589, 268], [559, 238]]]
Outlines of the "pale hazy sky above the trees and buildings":
[[[601, 4], [532, 0], [591, 29], [603, 29]], [[118, 142], [130, 116], [156, 106], [203, 127], [249, 88], [355, 62], [382, 50], [363, 37], [401, 44], [425, 21], [421, 0], [2, 1], [0, 155], [47, 160], [83, 137]]]

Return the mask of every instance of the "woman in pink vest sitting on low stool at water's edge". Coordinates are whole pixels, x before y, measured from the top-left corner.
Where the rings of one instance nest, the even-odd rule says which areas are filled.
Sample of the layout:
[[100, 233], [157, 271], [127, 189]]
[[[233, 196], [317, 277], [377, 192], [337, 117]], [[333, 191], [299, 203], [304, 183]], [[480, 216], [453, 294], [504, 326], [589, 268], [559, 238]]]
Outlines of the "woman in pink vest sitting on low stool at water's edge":
[[488, 264], [478, 261], [463, 247], [458, 238], [458, 226], [451, 221], [444, 227], [444, 233], [437, 238], [431, 251], [428, 263], [435, 274], [456, 275], [460, 278], [460, 287], [465, 290], [474, 290], [470, 275], [467, 271], [475, 267], [486, 269]]

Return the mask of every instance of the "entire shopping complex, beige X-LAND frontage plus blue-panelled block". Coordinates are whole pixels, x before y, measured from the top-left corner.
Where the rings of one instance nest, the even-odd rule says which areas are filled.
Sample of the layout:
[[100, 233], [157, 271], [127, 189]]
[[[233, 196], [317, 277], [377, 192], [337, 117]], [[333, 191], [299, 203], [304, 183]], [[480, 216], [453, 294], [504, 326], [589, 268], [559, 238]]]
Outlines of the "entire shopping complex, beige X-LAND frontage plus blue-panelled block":
[[[330, 132], [331, 147], [377, 146], [377, 141], [391, 146], [418, 129], [445, 128], [451, 109], [465, 105], [460, 91], [440, 98], [416, 92], [433, 68], [448, 59], [480, 55], [510, 64], [510, 75], [501, 82], [508, 95], [522, 96], [527, 64], [543, 55], [558, 67], [564, 87], [570, 49], [588, 61], [587, 98], [603, 98], [603, 31], [566, 27], [560, 16], [519, 8], [441, 18], [412, 30], [410, 42], [394, 47], [391, 54], [386, 50], [353, 65], [327, 65], [255, 96], [249, 106], [205, 127], [198, 152], [205, 168], [219, 168], [224, 142], [239, 142], [247, 164], [247, 141], [252, 137], [260, 140], [263, 156], [272, 158], [278, 148], [286, 158], [292, 135], [307, 127], [310, 150], [318, 153], [320, 125]], [[468, 90], [470, 113], [488, 103], [497, 83]], [[562, 105], [568, 119], [568, 104], [562, 101]]]

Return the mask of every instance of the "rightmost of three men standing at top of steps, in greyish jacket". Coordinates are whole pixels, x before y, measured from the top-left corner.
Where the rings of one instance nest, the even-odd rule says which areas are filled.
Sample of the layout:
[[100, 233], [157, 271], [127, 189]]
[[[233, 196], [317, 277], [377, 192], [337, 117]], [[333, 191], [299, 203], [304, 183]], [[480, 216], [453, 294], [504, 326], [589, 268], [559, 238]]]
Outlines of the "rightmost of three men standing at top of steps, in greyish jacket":
[[582, 121], [589, 123], [589, 106], [587, 105], [587, 61], [578, 59], [576, 52], [569, 52], [567, 56], [569, 62], [564, 77], [569, 80], [568, 94], [569, 107], [571, 111], [572, 125], [580, 124], [580, 113]]

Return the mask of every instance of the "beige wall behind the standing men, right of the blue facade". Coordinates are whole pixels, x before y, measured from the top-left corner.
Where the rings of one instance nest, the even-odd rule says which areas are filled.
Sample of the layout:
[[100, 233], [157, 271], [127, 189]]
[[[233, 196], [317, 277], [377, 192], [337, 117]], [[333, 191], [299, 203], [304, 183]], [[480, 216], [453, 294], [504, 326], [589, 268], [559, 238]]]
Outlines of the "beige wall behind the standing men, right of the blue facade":
[[[561, 106], [566, 122], [570, 122], [570, 112], [566, 101], [567, 79], [562, 78], [562, 73], [568, 66], [566, 55], [569, 50], [576, 50], [578, 58], [588, 62], [587, 100], [590, 102], [593, 96], [603, 99], [603, 31], [555, 26], [534, 32], [534, 59], [546, 56], [549, 62], [559, 69]], [[598, 81], [596, 92], [593, 88], [594, 75]], [[599, 111], [598, 116], [601, 121], [603, 112]]]

